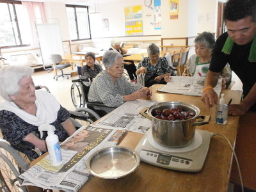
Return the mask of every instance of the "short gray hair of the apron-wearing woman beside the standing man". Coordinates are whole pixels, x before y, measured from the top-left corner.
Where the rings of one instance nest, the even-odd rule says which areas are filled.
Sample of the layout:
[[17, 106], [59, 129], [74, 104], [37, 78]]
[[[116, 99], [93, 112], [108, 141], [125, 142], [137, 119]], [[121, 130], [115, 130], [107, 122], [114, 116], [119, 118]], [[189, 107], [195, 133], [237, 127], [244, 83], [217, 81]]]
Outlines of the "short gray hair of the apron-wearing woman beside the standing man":
[[209, 51], [212, 51], [215, 45], [215, 38], [212, 33], [204, 31], [200, 35], [196, 36], [194, 42], [195, 44], [204, 44]]

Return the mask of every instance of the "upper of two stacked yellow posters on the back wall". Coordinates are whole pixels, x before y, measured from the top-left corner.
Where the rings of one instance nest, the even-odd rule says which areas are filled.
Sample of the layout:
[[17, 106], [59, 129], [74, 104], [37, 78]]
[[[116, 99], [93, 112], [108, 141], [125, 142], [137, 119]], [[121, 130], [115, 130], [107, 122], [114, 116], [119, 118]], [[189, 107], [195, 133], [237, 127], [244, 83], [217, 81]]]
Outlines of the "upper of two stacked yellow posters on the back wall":
[[141, 5], [124, 8], [125, 21], [142, 20]]

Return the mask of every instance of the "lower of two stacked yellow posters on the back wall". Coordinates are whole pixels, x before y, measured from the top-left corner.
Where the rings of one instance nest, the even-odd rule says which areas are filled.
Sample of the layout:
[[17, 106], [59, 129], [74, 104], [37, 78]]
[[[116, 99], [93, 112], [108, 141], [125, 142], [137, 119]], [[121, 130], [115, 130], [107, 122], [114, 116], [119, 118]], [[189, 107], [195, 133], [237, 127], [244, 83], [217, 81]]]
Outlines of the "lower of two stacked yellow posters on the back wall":
[[143, 35], [142, 20], [125, 22], [126, 36]]

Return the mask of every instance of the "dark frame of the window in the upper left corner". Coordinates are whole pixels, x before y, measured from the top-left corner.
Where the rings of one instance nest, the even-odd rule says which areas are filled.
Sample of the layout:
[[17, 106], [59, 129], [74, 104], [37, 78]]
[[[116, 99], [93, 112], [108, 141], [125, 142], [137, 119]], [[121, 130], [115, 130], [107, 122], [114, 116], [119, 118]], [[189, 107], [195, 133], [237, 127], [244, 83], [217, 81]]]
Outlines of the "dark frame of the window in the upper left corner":
[[[13, 8], [13, 13], [15, 14], [15, 25], [17, 26], [17, 32], [18, 32], [18, 40], [19, 40], [19, 45], [10, 45], [10, 46], [0, 46], [0, 49], [8, 49], [8, 48], [15, 48], [15, 47], [28, 47], [30, 44], [22, 44], [22, 37], [20, 34], [20, 27], [19, 27], [19, 18], [17, 17], [17, 12], [15, 8], [15, 4], [22, 4], [21, 1], [12, 1], [12, 0], [0, 0], [0, 3], [6, 3], [6, 4], [12, 4]], [[10, 11], [9, 11], [10, 15]]]

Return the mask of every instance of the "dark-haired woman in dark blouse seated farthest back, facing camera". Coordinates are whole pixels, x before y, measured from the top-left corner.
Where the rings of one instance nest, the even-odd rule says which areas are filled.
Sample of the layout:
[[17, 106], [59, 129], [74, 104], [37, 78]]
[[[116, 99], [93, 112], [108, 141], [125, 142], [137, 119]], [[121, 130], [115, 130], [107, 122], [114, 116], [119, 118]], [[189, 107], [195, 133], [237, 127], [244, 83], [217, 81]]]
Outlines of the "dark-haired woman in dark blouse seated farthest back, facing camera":
[[97, 74], [102, 72], [102, 67], [95, 63], [95, 53], [87, 52], [84, 56], [86, 65], [81, 68], [81, 76], [90, 77], [93, 80]]

